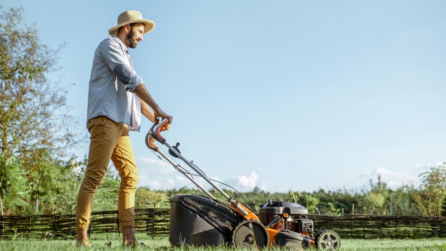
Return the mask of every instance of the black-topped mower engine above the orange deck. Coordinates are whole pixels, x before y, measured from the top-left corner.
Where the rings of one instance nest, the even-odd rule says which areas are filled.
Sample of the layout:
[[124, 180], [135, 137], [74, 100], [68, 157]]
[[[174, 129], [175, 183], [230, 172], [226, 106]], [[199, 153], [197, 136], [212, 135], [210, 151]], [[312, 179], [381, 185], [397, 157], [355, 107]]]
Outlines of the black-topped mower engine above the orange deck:
[[259, 209], [260, 222], [265, 226], [272, 222], [275, 218], [280, 217], [272, 229], [290, 230], [305, 235], [307, 238], [313, 236], [313, 221], [307, 218], [308, 209], [297, 203], [288, 201], [271, 201], [268, 200], [265, 205]]

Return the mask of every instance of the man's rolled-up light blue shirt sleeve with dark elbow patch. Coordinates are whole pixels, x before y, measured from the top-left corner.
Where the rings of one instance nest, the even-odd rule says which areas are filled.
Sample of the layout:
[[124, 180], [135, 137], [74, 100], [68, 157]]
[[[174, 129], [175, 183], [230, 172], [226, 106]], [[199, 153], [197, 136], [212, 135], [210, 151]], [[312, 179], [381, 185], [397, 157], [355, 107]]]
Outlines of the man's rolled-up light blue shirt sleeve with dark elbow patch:
[[123, 55], [120, 45], [113, 40], [104, 40], [99, 49], [104, 63], [110, 67], [116, 77], [125, 85], [125, 90], [134, 92], [136, 86], [144, 84], [142, 78], [132, 69], [128, 58]]

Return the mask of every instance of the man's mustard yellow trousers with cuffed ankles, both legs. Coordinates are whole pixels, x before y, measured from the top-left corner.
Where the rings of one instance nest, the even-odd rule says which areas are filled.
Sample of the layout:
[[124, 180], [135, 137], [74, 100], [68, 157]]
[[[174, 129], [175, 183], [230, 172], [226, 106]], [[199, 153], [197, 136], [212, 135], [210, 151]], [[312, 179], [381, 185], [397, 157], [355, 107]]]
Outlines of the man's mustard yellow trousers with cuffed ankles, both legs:
[[88, 229], [93, 195], [102, 183], [110, 159], [121, 177], [118, 202], [121, 226], [133, 226], [135, 191], [139, 176], [127, 125], [99, 116], [87, 121], [87, 129], [91, 134], [91, 141], [87, 170], [78, 193], [76, 228]]

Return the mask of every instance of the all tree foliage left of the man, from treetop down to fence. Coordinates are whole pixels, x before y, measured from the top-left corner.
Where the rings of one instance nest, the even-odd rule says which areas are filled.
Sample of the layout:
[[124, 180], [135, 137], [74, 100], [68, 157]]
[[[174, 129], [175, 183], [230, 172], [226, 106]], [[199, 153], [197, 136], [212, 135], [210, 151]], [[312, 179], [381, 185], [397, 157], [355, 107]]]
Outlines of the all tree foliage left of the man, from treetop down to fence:
[[22, 24], [23, 12], [0, 13], [0, 195], [5, 213], [54, 213], [73, 201], [61, 197], [78, 182], [67, 162], [79, 142], [71, 130], [77, 123], [65, 89], [47, 78], [60, 69], [57, 54], [65, 45], [43, 44], [36, 25]]

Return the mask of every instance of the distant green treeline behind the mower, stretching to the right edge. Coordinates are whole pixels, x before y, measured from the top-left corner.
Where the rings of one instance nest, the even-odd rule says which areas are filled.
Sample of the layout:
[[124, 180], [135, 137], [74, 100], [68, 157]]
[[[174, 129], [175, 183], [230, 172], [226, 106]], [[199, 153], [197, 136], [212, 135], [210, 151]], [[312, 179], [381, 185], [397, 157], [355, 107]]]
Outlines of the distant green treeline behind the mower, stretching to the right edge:
[[[266, 192], [254, 188], [251, 192], [242, 192], [247, 204], [256, 212], [260, 205], [272, 199], [273, 201], [297, 202], [308, 208], [308, 213], [335, 215], [366, 214], [366, 215], [401, 215], [401, 216], [446, 216], [446, 167], [430, 167], [429, 172], [421, 174], [421, 186], [403, 185], [390, 189], [377, 176], [376, 182], [370, 180], [370, 188], [351, 192], [347, 190], [324, 190], [314, 192], [288, 191]], [[243, 202], [239, 194], [223, 189], [230, 196]], [[167, 197], [178, 193], [197, 193], [197, 190], [180, 188], [164, 192]], [[212, 192], [219, 200], [224, 201], [218, 192]], [[168, 206], [158, 204], [157, 206]]]

